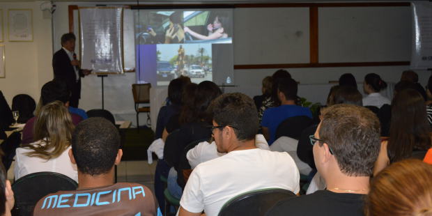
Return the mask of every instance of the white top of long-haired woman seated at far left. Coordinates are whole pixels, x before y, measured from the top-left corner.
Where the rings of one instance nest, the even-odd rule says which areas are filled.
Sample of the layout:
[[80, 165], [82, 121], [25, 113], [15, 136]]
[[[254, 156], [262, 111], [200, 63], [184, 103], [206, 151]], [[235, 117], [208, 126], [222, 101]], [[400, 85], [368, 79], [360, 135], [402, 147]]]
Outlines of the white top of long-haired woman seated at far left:
[[[39, 144], [40, 141], [36, 141], [30, 145]], [[26, 176], [30, 173], [36, 173], [40, 171], [52, 171], [55, 173], [61, 173], [69, 178], [72, 178], [78, 182], [78, 170], [77, 165], [72, 164], [69, 158], [69, 148], [66, 148], [59, 157], [45, 160], [40, 157], [29, 157], [26, 153], [31, 152], [31, 148], [17, 148], [17, 155], [15, 158], [14, 174], [15, 180]]]

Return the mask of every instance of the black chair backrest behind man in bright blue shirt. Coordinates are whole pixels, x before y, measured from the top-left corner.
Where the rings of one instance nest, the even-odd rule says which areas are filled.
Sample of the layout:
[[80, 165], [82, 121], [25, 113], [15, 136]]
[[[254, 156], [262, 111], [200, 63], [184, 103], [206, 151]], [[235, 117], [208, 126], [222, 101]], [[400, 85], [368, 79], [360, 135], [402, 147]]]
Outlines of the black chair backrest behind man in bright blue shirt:
[[275, 140], [279, 137], [291, 137], [299, 139], [303, 130], [312, 125], [313, 119], [308, 116], [294, 116], [286, 118], [282, 123], [277, 126]]

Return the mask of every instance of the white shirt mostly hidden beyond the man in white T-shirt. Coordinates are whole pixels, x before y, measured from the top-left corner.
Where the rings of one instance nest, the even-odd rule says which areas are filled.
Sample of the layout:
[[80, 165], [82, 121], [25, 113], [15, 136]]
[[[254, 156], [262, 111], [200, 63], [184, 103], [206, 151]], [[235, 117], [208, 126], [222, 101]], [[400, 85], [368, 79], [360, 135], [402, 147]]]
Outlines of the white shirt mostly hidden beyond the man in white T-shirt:
[[[270, 147], [268, 146], [263, 134], [255, 135], [255, 146], [256, 148], [270, 150]], [[190, 167], [194, 169], [196, 166], [198, 166], [198, 164], [208, 160], [213, 160], [216, 157], [220, 157], [222, 155], [225, 155], [225, 153], [217, 152], [215, 141], [212, 141], [211, 144], [209, 144], [208, 141], [203, 141], [188, 151], [186, 157], [187, 161], [189, 161]]]

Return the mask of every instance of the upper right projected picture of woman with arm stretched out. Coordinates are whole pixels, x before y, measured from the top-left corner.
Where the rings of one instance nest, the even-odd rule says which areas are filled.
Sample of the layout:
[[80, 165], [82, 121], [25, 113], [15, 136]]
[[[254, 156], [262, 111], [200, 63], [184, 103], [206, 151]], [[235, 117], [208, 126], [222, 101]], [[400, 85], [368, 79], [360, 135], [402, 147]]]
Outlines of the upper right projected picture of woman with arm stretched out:
[[186, 11], [185, 43], [232, 43], [232, 17], [223, 11]]

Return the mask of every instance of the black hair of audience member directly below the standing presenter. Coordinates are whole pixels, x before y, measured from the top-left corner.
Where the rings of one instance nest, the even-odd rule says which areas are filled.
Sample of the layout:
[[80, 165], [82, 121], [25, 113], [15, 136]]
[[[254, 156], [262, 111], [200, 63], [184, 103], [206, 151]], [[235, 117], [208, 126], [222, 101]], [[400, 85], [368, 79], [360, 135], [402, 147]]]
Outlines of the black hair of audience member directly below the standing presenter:
[[40, 98], [44, 106], [55, 100], [60, 100], [63, 103], [68, 102], [70, 98], [68, 85], [60, 79], [49, 81], [42, 86]]

